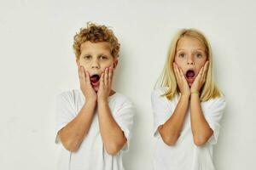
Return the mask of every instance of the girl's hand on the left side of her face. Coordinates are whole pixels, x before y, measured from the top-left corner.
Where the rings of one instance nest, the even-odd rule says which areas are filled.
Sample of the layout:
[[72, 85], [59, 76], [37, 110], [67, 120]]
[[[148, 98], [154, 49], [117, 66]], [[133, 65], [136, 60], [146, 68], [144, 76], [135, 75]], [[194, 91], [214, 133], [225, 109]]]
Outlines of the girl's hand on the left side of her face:
[[190, 89], [189, 89], [189, 84], [183, 74], [183, 71], [178, 68], [176, 63], [173, 63], [173, 69], [177, 81], [177, 86], [181, 92], [182, 95], [190, 95]]

